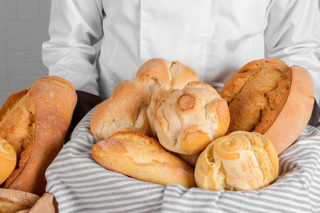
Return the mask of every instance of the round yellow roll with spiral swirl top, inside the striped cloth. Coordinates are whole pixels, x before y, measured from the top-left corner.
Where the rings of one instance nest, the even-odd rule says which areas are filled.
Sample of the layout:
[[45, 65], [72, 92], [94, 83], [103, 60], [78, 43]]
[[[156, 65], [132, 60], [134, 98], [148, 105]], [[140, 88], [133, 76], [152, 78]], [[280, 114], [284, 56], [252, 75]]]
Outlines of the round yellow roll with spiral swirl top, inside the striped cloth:
[[272, 143], [260, 133], [236, 131], [214, 140], [199, 156], [195, 180], [205, 190], [257, 190], [279, 172]]

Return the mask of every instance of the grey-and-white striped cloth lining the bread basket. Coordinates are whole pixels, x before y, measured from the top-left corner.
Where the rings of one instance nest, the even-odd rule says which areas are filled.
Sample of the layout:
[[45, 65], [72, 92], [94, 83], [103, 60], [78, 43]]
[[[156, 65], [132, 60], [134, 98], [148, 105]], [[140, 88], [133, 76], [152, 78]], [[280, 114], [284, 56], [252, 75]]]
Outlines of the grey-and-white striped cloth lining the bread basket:
[[306, 126], [279, 156], [279, 176], [256, 191], [206, 191], [139, 181], [91, 156], [90, 110], [46, 172], [59, 212], [320, 212], [320, 131]]

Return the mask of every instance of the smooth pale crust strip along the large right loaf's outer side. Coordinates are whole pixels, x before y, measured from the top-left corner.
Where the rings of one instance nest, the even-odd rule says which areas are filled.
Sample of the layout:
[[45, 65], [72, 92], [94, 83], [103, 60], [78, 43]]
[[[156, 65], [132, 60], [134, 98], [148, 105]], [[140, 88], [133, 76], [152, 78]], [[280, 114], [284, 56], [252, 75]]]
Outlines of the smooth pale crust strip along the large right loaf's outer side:
[[281, 113], [264, 135], [281, 154], [299, 137], [310, 120], [314, 98], [313, 81], [307, 69], [291, 66], [290, 93]]

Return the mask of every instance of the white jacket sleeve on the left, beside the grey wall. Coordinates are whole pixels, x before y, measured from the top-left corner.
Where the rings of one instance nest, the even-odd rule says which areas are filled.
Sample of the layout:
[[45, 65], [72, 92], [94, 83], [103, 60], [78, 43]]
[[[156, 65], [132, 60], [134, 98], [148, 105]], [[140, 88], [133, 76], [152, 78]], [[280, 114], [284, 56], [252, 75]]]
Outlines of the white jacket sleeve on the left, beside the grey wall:
[[52, 0], [50, 40], [42, 44], [49, 75], [63, 77], [82, 90], [98, 95], [94, 44], [103, 34], [101, 1]]

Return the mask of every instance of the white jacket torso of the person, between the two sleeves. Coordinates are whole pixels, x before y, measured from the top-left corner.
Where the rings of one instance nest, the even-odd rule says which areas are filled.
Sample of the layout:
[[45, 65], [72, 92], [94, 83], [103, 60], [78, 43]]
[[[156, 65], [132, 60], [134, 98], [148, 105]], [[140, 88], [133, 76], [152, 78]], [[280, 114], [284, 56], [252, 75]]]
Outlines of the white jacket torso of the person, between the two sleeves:
[[246, 62], [264, 57], [270, 0], [104, 0], [97, 61], [105, 98], [151, 58], [179, 61], [204, 82], [225, 82]]

